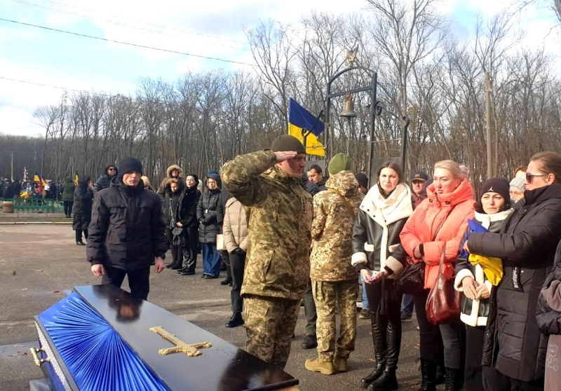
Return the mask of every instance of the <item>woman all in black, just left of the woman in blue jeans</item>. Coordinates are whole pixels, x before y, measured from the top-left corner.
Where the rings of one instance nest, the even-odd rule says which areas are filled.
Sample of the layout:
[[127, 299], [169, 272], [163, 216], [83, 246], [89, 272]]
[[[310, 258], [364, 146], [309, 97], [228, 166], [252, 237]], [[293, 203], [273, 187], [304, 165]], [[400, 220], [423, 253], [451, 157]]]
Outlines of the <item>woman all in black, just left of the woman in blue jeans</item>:
[[198, 177], [196, 174], [189, 174], [185, 178], [187, 188], [181, 193], [179, 205], [179, 224], [183, 228], [183, 263], [182, 268], [177, 270], [181, 275], [194, 275], [197, 266], [197, 240], [198, 240], [198, 221], [197, 206], [201, 198], [198, 191]]

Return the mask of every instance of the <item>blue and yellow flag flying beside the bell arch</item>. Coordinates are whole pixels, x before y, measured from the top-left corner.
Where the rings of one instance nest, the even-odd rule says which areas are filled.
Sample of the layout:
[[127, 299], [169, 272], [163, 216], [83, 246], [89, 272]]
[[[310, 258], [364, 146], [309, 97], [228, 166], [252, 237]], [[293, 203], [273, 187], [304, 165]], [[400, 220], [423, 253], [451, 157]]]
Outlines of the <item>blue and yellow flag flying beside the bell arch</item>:
[[325, 156], [325, 147], [318, 141], [318, 136], [324, 130], [325, 124], [322, 121], [290, 98], [288, 134], [299, 139], [302, 144], [304, 144], [304, 135], [306, 135], [306, 153]]

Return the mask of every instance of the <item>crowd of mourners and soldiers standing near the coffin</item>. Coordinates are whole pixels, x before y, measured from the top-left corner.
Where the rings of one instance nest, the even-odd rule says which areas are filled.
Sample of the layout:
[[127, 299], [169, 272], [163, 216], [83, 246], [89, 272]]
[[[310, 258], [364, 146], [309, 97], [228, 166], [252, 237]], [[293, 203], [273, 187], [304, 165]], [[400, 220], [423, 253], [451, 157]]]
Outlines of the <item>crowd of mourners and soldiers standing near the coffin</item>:
[[[102, 283], [120, 287], [128, 275], [142, 299], [151, 266], [194, 275], [201, 247], [201, 277], [228, 266], [226, 326], [245, 324], [245, 350], [279, 369], [303, 301], [302, 347], [317, 350], [304, 363], [309, 371], [348, 371], [357, 318], [370, 319], [375, 364], [358, 383], [398, 389], [402, 322], [414, 311], [421, 390], [557, 389], [561, 155], [536, 153], [511, 181], [489, 179], [478, 195], [467, 167], [452, 160], [409, 183], [389, 161], [369, 186], [349, 156], [334, 156], [325, 174], [318, 165], [305, 170], [305, 156], [283, 135], [271, 149], [210, 170], [204, 186], [173, 165], [156, 191], [140, 161], [126, 158], [119, 170], [107, 167], [97, 189], [79, 180], [76, 242], [83, 233]], [[460, 300], [459, 311], [440, 308], [435, 320], [435, 296]]]

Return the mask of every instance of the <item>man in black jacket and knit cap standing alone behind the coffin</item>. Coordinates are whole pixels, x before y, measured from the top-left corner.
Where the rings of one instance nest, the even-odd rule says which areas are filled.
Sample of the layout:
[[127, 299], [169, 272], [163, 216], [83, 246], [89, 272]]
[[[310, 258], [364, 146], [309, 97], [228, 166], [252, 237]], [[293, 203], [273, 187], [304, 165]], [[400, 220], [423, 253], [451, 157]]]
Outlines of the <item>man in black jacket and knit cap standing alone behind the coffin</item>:
[[130, 293], [146, 300], [150, 266], [156, 259], [154, 271], [160, 273], [170, 248], [161, 200], [144, 188], [139, 160], [124, 158], [119, 172], [111, 186], [95, 196], [86, 255], [93, 275], [103, 276], [102, 284], [121, 287], [128, 275]]

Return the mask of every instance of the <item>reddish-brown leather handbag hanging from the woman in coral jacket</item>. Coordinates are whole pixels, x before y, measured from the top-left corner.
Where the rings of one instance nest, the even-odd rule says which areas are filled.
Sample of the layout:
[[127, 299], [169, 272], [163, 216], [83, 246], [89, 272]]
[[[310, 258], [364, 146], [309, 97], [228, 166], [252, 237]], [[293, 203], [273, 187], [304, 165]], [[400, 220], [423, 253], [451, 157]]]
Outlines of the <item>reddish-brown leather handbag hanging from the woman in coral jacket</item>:
[[426, 319], [432, 324], [454, 323], [460, 320], [460, 292], [454, 289], [454, 277], [446, 278], [442, 273], [445, 252], [446, 245], [440, 255], [438, 277], [426, 299]]

